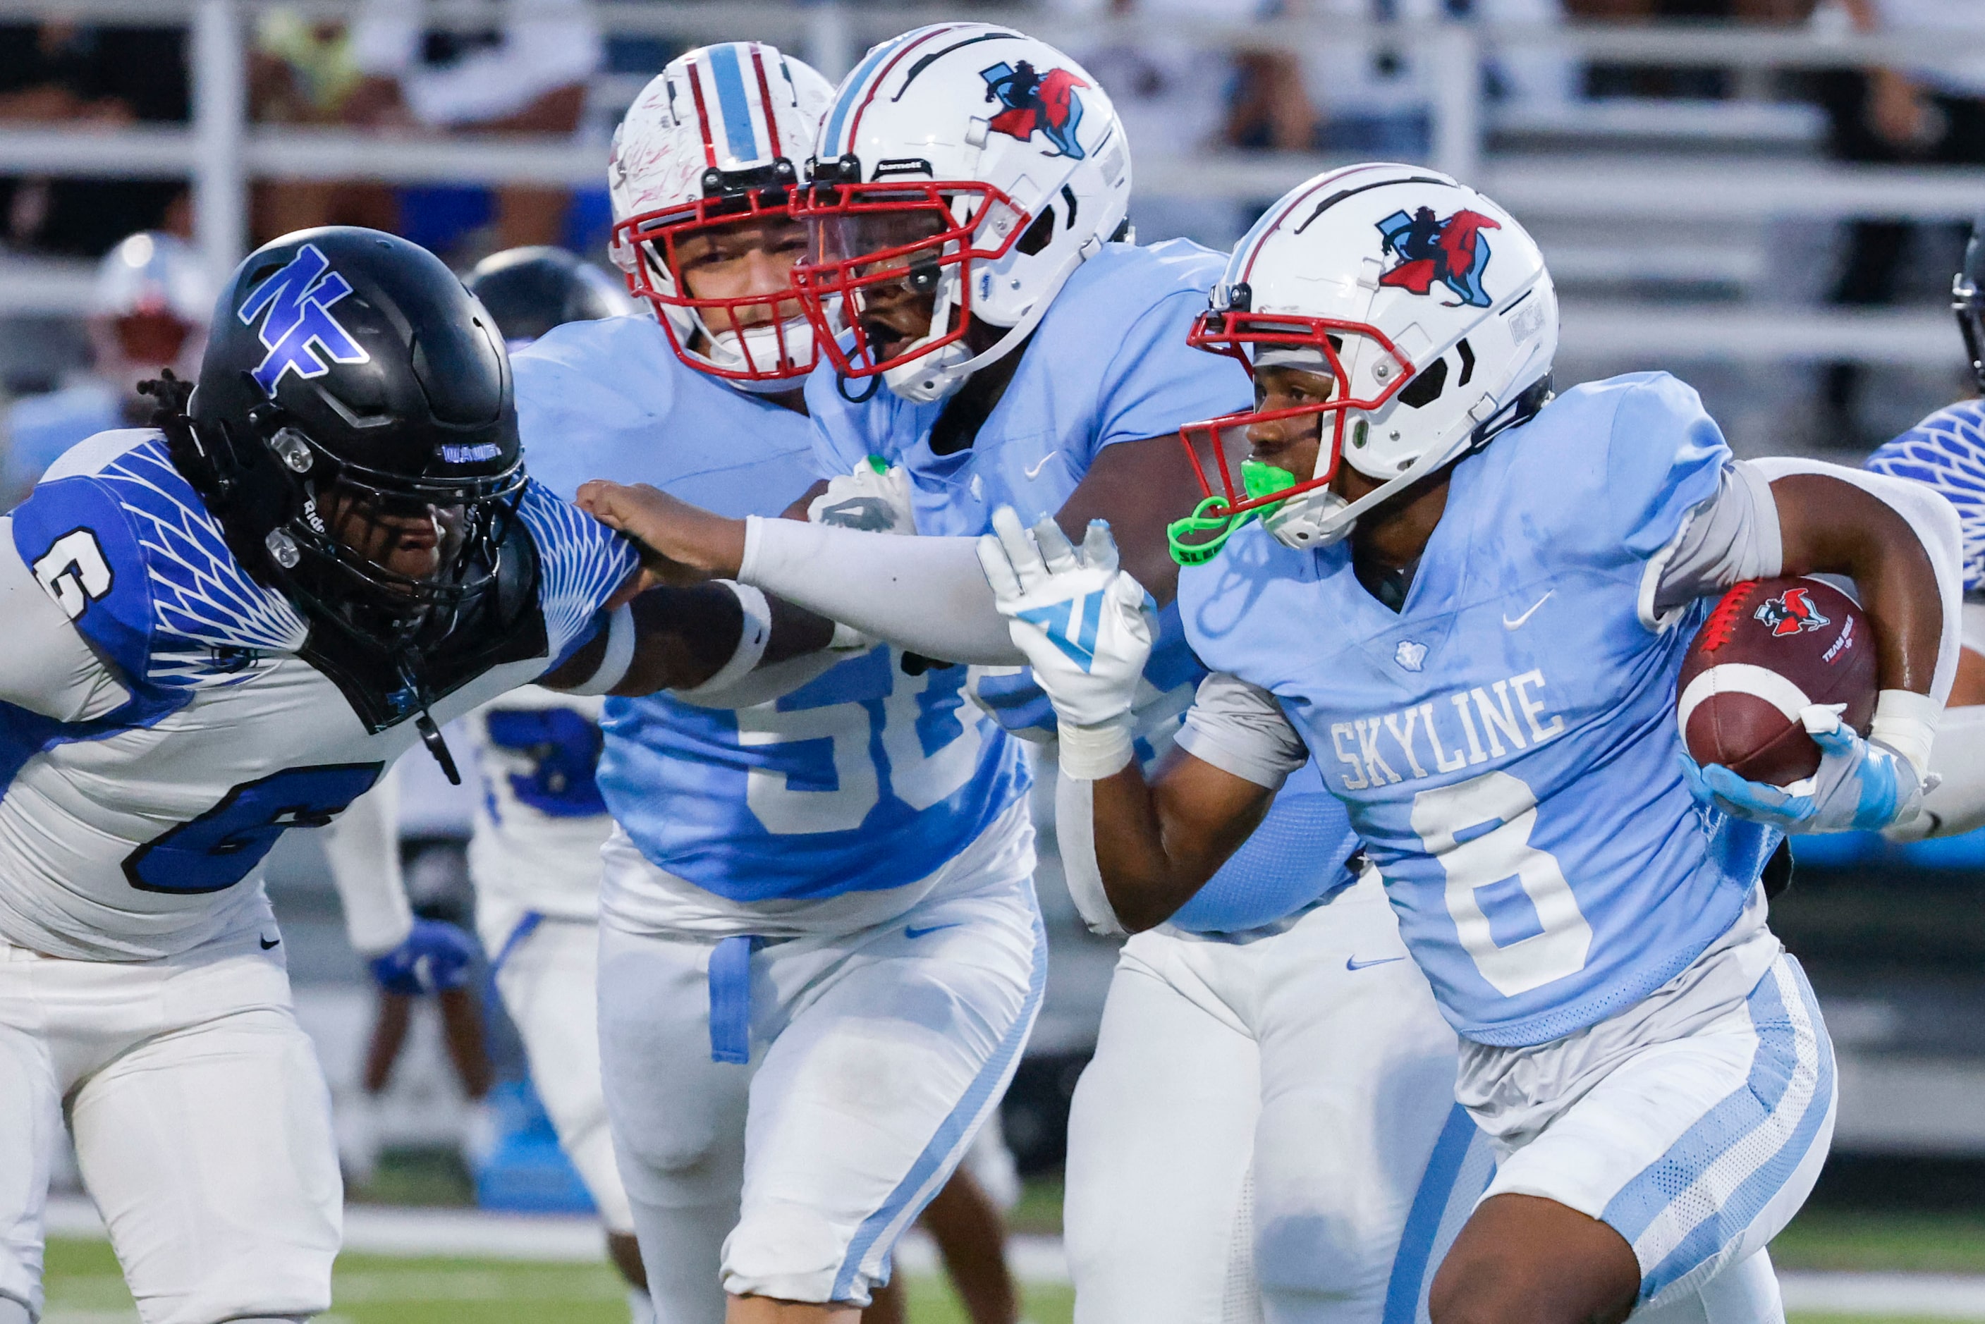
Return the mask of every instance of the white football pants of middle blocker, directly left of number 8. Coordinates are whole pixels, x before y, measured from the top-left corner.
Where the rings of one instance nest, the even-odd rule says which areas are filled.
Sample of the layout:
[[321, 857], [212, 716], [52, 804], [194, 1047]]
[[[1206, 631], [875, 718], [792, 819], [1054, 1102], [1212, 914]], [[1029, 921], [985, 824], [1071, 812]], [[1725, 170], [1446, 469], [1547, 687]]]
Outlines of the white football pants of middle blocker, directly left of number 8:
[[1078, 1324], [1425, 1320], [1489, 1181], [1378, 873], [1253, 941], [1129, 939], [1068, 1124]]

